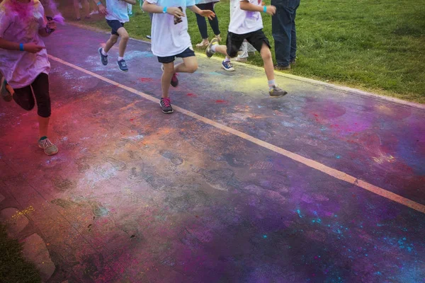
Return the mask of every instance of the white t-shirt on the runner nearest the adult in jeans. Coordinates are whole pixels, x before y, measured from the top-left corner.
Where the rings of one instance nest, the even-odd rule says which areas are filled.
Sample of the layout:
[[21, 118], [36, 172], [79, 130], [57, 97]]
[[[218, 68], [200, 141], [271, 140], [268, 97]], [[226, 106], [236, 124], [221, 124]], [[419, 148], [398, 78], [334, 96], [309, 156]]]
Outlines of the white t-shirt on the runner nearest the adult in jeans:
[[[263, 28], [263, 19], [260, 12], [244, 11], [240, 2], [246, 0], [230, 1], [230, 23], [229, 32], [243, 35], [252, 33]], [[261, 6], [261, 0], [248, 0], [249, 3]]]

